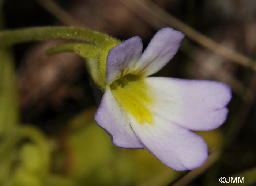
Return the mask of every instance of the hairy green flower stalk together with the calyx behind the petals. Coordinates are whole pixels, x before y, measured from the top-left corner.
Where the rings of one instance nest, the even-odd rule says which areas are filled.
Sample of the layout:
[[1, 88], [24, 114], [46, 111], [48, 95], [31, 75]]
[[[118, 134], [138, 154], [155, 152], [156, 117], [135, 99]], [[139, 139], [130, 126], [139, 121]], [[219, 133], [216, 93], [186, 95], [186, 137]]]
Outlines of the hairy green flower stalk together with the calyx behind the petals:
[[111, 48], [120, 41], [107, 34], [75, 27], [33, 27], [0, 32], [0, 47], [8, 47], [22, 42], [45, 41], [53, 39], [72, 39], [46, 51], [46, 55], [61, 52], [75, 52], [86, 58], [87, 69], [95, 84], [105, 92], [106, 58]]

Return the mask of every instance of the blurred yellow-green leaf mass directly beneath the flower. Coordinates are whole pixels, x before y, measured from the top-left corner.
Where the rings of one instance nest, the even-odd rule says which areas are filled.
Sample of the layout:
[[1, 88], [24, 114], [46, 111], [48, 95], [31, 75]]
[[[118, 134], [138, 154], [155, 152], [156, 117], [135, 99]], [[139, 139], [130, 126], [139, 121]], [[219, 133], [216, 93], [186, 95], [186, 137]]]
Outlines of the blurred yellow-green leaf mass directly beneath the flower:
[[64, 170], [68, 170], [65, 175], [75, 185], [164, 186], [180, 174], [146, 149], [114, 146], [110, 136], [95, 123], [94, 113], [86, 111], [77, 116], [67, 128], [66, 139], [61, 140], [66, 141], [68, 150], [62, 161]]

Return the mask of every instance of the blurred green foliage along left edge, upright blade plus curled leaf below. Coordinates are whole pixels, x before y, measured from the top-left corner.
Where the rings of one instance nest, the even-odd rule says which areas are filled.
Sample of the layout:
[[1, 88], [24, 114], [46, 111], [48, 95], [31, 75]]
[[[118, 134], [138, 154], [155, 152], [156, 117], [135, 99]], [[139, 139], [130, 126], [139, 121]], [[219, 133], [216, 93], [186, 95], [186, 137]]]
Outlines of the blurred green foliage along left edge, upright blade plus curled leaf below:
[[42, 186], [49, 150], [38, 129], [19, 125], [14, 60], [0, 49], [0, 185]]

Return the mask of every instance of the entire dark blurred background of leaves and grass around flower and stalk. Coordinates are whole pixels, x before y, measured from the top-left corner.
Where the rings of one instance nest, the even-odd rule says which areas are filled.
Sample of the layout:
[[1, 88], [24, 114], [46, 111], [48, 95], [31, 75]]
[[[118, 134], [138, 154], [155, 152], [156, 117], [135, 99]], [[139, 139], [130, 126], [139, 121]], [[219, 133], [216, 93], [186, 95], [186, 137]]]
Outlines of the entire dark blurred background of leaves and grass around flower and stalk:
[[121, 40], [140, 36], [144, 48], [159, 29], [172, 27], [186, 38], [154, 75], [221, 81], [233, 91], [226, 122], [196, 132], [209, 159], [180, 173], [147, 150], [111, 143], [93, 119], [102, 93], [84, 59], [45, 56], [67, 40], [1, 49], [0, 185], [208, 186], [232, 176], [256, 185], [255, 0], [0, 0], [0, 6], [2, 30], [76, 26]]

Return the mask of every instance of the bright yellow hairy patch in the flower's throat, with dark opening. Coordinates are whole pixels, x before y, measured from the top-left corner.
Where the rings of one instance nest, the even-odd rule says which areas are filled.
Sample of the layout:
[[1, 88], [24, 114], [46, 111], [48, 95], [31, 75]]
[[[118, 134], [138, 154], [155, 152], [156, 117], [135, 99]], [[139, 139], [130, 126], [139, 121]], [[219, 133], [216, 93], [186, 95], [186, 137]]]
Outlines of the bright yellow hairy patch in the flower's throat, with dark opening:
[[140, 124], [153, 123], [152, 113], [148, 110], [153, 104], [149, 89], [143, 77], [132, 74], [125, 75], [110, 85], [121, 109], [131, 113]]

